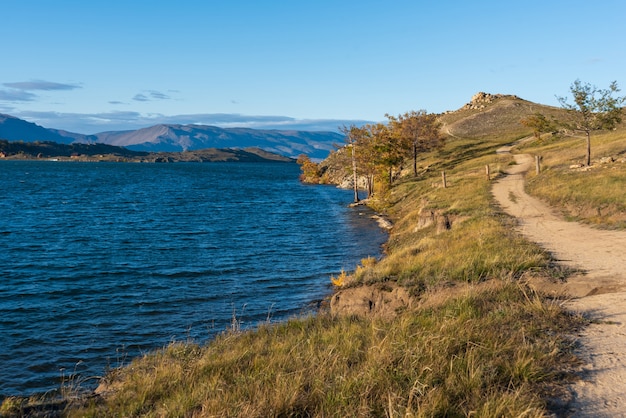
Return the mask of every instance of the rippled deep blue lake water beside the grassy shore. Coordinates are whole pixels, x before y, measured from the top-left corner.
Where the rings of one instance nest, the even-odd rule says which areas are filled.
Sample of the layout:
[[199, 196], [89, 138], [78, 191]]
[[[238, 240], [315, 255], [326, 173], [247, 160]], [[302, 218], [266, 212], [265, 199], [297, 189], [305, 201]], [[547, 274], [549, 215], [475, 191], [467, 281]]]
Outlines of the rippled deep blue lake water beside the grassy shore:
[[0, 162], [0, 399], [316, 306], [386, 234], [285, 163]]

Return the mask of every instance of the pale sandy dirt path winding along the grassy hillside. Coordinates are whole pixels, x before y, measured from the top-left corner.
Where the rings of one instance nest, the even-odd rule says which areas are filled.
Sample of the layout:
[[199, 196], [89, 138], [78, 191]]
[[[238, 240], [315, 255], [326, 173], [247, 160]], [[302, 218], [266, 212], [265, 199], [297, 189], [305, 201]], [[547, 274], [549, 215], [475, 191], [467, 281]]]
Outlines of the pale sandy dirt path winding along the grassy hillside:
[[[510, 151], [510, 147], [499, 153]], [[585, 363], [583, 380], [571, 387], [572, 417], [626, 417], [626, 232], [603, 231], [564, 221], [524, 192], [529, 155], [515, 155], [516, 166], [493, 186], [501, 207], [519, 220], [519, 230], [559, 262], [584, 272], [548, 290], [573, 299], [566, 307], [597, 320], [578, 336]]]

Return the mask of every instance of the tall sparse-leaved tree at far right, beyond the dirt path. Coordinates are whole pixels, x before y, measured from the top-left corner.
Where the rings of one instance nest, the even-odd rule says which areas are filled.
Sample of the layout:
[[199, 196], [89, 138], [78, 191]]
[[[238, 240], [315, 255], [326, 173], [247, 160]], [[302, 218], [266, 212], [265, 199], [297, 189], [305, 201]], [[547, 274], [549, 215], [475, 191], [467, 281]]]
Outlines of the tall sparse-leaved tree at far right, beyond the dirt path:
[[626, 97], [613, 97], [613, 94], [619, 91], [615, 81], [608, 89], [598, 89], [596, 86], [576, 80], [570, 86], [573, 104], [568, 103], [567, 98], [557, 96], [561, 106], [571, 115], [571, 121], [567, 121], [565, 125], [585, 134], [587, 166], [591, 165], [591, 131], [613, 129], [622, 121], [621, 105]]

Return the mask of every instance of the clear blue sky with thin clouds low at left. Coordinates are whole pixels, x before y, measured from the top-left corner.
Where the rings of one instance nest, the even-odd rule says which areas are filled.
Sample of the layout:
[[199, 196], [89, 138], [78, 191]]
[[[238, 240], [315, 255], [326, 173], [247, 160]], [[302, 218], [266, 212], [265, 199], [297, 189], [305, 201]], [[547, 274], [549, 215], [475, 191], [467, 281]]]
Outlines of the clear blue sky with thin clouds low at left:
[[576, 79], [626, 85], [623, 0], [20, 0], [0, 13], [0, 113], [80, 133], [327, 130], [479, 91], [557, 106]]

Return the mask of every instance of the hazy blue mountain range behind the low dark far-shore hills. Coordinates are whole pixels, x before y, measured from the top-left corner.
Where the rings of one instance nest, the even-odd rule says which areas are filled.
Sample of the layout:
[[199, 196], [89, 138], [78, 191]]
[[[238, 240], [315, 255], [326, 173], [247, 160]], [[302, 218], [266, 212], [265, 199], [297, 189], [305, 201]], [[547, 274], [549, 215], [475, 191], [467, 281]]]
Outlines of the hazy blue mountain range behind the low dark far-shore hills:
[[264, 151], [295, 158], [306, 154], [323, 159], [343, 142], [337, 132], [219, 128], [207, 125], [155, 125], [134, 131], [101, 132], [93, 135], [49, 129], [35, 123], [0, 114], [0, 139], [8, 141], [52, 141], [61, 144], [106, 144], [133, 151], [180, 152], [205, 148]]

